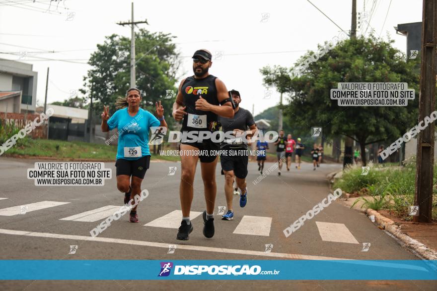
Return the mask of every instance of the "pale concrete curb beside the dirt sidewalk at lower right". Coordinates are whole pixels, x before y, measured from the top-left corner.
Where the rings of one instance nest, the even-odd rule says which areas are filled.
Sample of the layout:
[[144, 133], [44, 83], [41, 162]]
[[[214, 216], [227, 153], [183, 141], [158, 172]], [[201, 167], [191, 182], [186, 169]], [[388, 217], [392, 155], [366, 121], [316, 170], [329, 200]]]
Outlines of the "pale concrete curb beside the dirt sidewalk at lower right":
[[373, 210], [371, 208], [367, 208], [365, 210], [365, 214], [368, 216], [374, 215], [375, 216], [375, 223], [382, 226], [384, 230], [394, 235], [397, 239], [402, 241], [408, 248], [416, 251], [419, 255], [424, 257], [427, 260], [437, 260], [437, 251], [429, 248], [422, 242], [417, 241], [414, 238], [411, 238], [405, 233], [402, 233], [399, 226], [397, 226], [394, 221], [391, 219], [386, 218], [385, 216], [381, 215], [376, 210]]

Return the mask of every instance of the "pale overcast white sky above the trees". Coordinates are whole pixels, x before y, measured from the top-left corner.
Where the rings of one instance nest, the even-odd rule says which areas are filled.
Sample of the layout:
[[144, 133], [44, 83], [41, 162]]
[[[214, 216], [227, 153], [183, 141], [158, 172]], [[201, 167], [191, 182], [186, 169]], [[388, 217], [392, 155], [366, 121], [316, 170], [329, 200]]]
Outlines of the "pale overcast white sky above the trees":
[[[116, 23], [130, 20], [131, 2], [0, 0], [0, 58], [17, 60], [18, 56], [4, 53], [27, 51], [27, 57], [20, 61], [33, 64], [38, 72], [39, 104], [44, 102], [47, 67], [48, 102], [63, 101], [69, 98], [70, 90], [82, 88], [82, 78], [90, 68], [86, 62], [105, 36], [115, 33], [130, 37], [130, 28]], [[350, 29], [352, 0], [311, 2], [342, 29]], [[374, 4], [367, 34], [373, 28], [376, 35], [381, 33], [386, 39], [388, 32], [394, 46], [405, 52], [406, 37], [397, 35], [393, 26], [422, 21], [422, 1], [357, 0], [357, 12], [364, 11], [364, 3], [365, 11]], [[279, 102], [274, 88], [270, 88], [271, 98], [265, 99], [261, 67], [291, 66], [306, 50], [317, 49], [317, 44], [340, 32], [307, 0], [221, 0], [202, 1], [202, 5], [190, 0], [136, 0], [134, 5], [135, 20], [147, 19], [149, 23], [140, 27], [177, 37], [175, 42], [184, 57], [180, 78], [192, 75], [191, 56], [197, 49], [208, 49], [213, 55], [222, 52], [221, 59], [213, 59], [210, 73], [223, 80], [228, 90], [239, 90], [241, 107], [252, 111], [254, 104], [255, 114]], [[48, 51], [57, 53], [44, 53]], [[74, 59], [79, 63], [33, 57]]]

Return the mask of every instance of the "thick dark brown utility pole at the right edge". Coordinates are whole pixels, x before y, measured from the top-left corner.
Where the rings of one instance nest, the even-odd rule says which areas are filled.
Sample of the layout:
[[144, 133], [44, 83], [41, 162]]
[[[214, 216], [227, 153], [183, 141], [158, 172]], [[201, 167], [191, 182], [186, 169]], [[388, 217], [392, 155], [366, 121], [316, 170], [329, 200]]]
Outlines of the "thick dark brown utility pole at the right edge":
[[[436, 38], [437, 3], [435, 0], [423, 0], [419, 121], [430, 116], [435, 110]], [[431, 223], [432, 220], [434, 143], [434, 122], [431, 122], [419, 132], [417, 138], [414, 206], [418, 206], [419, 215], [413, 216], [413, 222]]]

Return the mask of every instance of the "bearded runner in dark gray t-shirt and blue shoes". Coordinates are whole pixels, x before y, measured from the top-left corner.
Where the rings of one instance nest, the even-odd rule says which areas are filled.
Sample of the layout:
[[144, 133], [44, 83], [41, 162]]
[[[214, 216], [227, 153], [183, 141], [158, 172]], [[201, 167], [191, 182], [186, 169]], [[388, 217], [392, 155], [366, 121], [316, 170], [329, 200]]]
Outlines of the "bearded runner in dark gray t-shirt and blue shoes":
[[[234, 213], [232, 209], [232, 194], [234, 177], [238, 188], [240, 188], [240, 207], [246, 206], [247, 203], [247, 164], [249, 162], [248, 146], [244, 140], [249, 140], [256, 132], [257, 128], [252, 114], [239, 107], [241, 102], [240, 93], [231, 90], [232, 99], [235, 104], [234, 116], [232, 118], [219, 117], [223, 132], [233, 131], [235, 138], [225, 138], [220, 144], [220, 150], [226, 151], [226, 154], [220, 155], [221, 171], [225, 178], [224, 193], [226, 195], [227, 213], [222, 216], [222, 220], [232, 220]], [[249, 129], [249, 131], [247, 131]], [[247, 131], [246, 137], [241, 137], [243, 132]]]

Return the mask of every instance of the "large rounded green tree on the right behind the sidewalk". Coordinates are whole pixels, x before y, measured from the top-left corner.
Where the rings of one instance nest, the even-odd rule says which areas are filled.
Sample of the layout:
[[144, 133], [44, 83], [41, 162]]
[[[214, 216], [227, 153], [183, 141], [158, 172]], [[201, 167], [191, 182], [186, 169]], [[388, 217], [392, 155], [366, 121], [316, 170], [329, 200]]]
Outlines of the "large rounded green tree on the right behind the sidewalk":
[[[365, 165], [365, 145], [385, 140], [391, 143], [417, 121], [418, 60], [406, 61], [405, 54], [392, 47], [393, 42], [372, 35], [340, 42], [299, 76], [283, 81], [282, 87], [291, 96], [285, 114], [301, 125], [322, 126], [325, 136], [353, 138], [360, 143]], [[306, 53], [296, 66], [313, 54]], [[277, 79], [277, 67], [264, 67], [261, 72], [267, 81]], [[407, 107], [340, 107], [330, 99], [330, 90], [339, 82], [406, 82], [408, 88], [415, 89], [416, 98]]]

